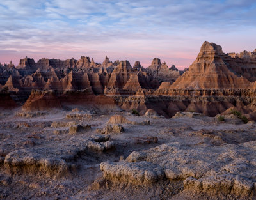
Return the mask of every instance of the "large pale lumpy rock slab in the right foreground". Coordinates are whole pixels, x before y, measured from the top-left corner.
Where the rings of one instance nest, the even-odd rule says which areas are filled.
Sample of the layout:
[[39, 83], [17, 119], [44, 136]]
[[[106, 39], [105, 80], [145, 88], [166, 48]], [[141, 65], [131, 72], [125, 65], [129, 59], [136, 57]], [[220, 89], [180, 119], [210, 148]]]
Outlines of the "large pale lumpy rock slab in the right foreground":
[[[184, 180], [184, 191], [255, 195], [255, 144], [189, 148], [179, 143], [134, 151], [125, 161], [102, 162], [104, 178], [134, 183]], [[252, 150], [252, 151], [251, 151]]]

